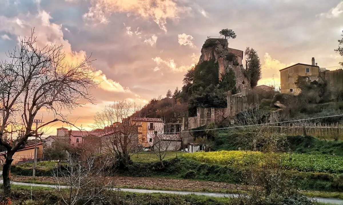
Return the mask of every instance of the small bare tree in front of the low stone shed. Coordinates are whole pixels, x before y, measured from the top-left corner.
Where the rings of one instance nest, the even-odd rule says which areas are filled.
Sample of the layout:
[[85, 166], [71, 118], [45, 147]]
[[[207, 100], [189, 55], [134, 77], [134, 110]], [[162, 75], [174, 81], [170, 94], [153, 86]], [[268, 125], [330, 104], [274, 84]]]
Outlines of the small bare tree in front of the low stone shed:
[[164, 129], [163, 125], [155, 127], [155, 136], [151, 149], [151, 153], [158, 157], [162, 167], [164, 167], [163, 159], [166, 157], [168, 152], [178, 151], [180, 148], [177, 143], [180, 140], [179, 136], [177, 134], [165, 134]]

